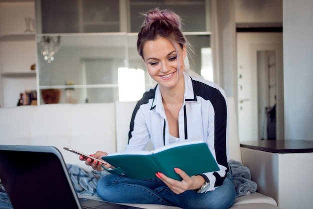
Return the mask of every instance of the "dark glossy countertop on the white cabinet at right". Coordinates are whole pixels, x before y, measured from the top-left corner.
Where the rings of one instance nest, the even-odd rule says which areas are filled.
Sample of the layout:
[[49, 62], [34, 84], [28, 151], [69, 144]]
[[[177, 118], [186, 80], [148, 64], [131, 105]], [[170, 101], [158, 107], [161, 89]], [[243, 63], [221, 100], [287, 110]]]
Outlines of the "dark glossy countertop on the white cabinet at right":
[[313, 152], [313, 141], [304, 140], [258, 140], [242, 141], [241, 147], [272, 153]]

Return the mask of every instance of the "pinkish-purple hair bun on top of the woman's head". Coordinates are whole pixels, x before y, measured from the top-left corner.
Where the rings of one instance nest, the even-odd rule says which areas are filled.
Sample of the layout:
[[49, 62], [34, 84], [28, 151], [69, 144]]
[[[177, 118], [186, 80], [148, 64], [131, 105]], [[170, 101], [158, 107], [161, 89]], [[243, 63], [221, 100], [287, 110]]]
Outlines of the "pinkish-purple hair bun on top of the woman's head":
[[181, 23], [180, 23], [180, 17], [178, 15], [168, 10], [160, 11], [157, 8], [149, 11], [146, 14], [144, 25], [150, 22], [160, 21], [160, 20], [170, 21], [180, 29]]

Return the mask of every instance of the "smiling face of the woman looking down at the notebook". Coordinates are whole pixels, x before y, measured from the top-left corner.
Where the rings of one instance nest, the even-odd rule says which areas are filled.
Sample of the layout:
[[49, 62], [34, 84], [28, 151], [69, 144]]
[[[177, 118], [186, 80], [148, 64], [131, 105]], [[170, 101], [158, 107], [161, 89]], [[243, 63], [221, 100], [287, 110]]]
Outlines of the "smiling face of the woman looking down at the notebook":
[[[186, 47], [182, 49], [176, 44], [178, 56], [175, 47], [164, 38], [158, 38], [155, 41], [147, 41], [142, 49], [143, 62], [147, 68], [150, 77], [156, 81], [160, 87], [172, 88], [176, 86], [182, 78], [184, 71], [183, 60], [186, 56]], [[177, 70], [179, 62], [180, 70]]]

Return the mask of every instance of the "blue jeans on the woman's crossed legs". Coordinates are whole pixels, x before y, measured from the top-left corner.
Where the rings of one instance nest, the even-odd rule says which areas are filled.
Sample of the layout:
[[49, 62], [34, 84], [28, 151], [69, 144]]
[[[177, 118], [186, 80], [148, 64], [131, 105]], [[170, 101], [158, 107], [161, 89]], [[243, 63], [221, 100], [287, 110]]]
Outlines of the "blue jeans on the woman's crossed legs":
[[175, 194], [158, 178], [136, 180], [114, 174], [101, 177], [96, 189], [98, 195], [109, 202], [163, 204], [186, 209], [228, 208], [236, 197], [233, 183], [228, 177], [214, 191], [205, 193], [187, 190]]

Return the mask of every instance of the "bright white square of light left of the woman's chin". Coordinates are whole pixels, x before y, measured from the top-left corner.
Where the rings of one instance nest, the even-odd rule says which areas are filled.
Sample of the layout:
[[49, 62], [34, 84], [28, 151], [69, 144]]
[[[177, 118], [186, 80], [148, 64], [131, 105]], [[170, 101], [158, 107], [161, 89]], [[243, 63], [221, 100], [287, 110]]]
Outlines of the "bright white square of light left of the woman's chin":
[[142, 69], [118, 68], [118, 97], [120, 102], [137, 101], [145, 91]]

